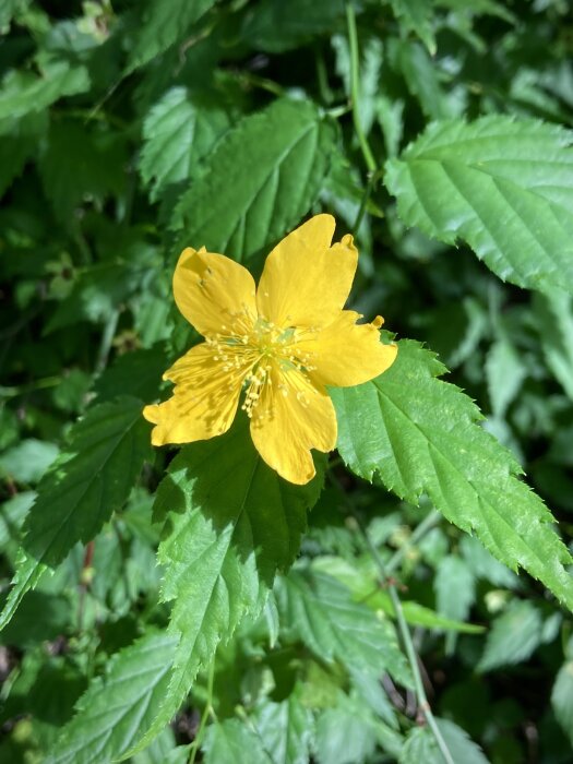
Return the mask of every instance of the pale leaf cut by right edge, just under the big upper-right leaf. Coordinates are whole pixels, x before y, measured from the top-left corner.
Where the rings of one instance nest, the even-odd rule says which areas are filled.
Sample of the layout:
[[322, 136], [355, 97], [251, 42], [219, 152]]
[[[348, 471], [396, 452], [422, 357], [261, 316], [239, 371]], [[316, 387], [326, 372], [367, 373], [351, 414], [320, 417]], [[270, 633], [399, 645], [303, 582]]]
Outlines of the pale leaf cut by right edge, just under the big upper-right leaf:
[[573, 401], [573, 300], [562, 289], [536, 295], [535, 325], [549, 369]]

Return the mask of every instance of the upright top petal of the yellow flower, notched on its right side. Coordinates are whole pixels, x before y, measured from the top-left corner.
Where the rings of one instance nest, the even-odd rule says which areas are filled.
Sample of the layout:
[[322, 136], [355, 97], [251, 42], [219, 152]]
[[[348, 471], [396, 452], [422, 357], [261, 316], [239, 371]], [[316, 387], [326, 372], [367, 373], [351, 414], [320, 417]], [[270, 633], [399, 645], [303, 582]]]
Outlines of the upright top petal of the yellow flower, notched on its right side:
[[330, 247], [335, 222], [315, 215], [267, 256], [259, 289], [259, 314], [277, 326], [324, 326], [350, 293], [358, 262], [351, 236]]

